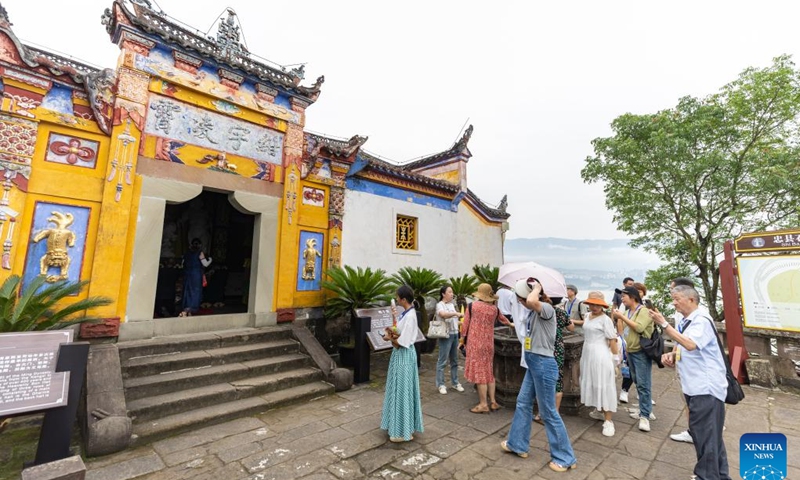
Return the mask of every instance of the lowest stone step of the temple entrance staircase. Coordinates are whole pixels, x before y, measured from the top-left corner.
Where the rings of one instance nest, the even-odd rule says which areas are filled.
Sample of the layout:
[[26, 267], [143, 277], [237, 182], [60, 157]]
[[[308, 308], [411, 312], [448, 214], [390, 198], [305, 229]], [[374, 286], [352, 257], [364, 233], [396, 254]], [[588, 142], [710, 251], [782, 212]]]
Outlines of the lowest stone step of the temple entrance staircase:
[[330, 395], [331, 393], [333, 393], [333, 385], [329, 383], [307, 383], [266, 395], [248, 397], [242, 400], [234, 400], [169, 415], [152, 421], [134, 423], [131, 445], [142, 445], [183, 433], [199, 426], [216, 425], [234, 418], [259, 414], [289, 403], [302, 402]]

